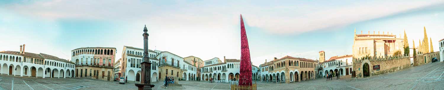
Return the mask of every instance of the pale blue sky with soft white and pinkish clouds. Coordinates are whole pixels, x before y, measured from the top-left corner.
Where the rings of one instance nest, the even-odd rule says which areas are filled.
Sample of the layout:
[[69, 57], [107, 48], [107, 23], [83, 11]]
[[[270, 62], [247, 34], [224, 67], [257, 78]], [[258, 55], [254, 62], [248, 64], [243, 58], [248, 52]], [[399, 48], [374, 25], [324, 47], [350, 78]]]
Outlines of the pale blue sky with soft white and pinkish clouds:
[[[71, 59], [80, 47], [143, 47], [202, 60], [240, 59], [240, 14], [253, 65], [286, 55], [326, 59], [351, 55], [354, 30], [408, 36], [416, 46], [424, 27], [434, 51], [444, 37], [443, 0], [1, 0], [0, 51]], [[402, 36], [403, 37], [403, 36]]]

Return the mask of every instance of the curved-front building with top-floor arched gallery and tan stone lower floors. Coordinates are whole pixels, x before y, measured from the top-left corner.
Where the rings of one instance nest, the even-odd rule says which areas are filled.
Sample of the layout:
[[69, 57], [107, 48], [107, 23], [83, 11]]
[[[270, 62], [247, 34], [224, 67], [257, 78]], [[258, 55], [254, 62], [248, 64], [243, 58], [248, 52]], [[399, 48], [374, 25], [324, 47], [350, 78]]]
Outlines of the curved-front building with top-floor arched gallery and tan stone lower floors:
[[114, 47], [81, 47], [71, 51], [77, 78], [114, 80]]

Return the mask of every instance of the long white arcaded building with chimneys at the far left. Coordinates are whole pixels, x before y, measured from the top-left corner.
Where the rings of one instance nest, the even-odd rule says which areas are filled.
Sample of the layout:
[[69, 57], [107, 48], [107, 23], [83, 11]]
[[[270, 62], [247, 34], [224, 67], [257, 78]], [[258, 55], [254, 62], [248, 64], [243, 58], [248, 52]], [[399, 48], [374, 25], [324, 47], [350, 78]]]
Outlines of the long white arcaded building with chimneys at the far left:
[[[23, 48], [22, 48], [23, 47]], [[47, 54], [20, 51], [0, 51], [0, 74], [39, 78], [71, 78], [75, 64]]]

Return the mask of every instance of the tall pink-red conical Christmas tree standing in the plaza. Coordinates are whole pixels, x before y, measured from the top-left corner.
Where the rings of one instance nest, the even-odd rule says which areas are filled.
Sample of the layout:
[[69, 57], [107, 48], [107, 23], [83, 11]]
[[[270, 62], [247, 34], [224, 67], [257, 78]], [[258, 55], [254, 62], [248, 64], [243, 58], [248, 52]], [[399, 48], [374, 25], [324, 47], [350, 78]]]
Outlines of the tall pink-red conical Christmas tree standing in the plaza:
[[248, 39], [245, 32], [244, 20], [241, 14], [241, 68], [239, 76], [239, 85], [251, 86], [251, 59], [250, 49], [248, 48]]

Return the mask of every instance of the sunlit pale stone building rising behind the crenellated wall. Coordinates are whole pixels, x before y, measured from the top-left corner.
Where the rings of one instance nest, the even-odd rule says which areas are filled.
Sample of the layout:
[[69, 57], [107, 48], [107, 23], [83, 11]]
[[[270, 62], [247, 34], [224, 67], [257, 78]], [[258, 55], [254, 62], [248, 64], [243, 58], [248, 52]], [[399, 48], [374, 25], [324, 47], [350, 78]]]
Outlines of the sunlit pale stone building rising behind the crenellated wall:
[[353, 57], [355, 59], [371, 56], [371, 57], [386, 57], [393, 55], [396, 51], [404, 53], [403, 38], [401, 36], [389, 34], [389, 32], [382, 34], [378, 31], [376, 34], [356, 34], [353, 39]]

